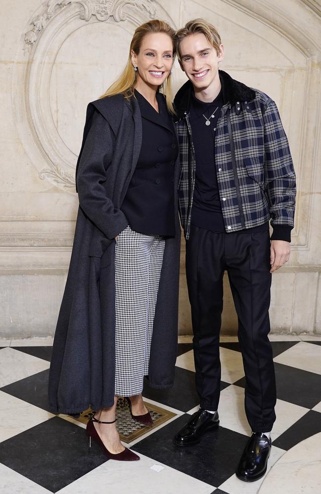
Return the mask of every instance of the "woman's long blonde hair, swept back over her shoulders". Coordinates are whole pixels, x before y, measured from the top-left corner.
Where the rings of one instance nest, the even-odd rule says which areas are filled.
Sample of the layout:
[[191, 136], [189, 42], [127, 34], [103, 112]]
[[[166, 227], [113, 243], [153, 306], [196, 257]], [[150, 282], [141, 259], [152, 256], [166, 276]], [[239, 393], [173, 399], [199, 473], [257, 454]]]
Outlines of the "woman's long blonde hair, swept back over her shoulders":
[[[108, 96], [114, 96], [115, 94], [123, 94], [126, 99], [134, 96], [134, 88], [136, 85], [136, 71], [131, 63], [131, 50], [138, 55], [143, 38], [150, 33], [164, 33], [167, 34], [173, 42], [173, 62], [175, 60], [175, 31], [164, 21], [154, 19], [148, 21], [145, 24], [139, 26], [134, 33], [129, 46], [128, 60], [124, 70], [120, 74], [119, 78], [107, 89], [107, 91], [101, 96], [106, 98]], [[158, 90], [166, 96], [166, 105], [170, 113], [175, 113], [172, 104], [172, 90], [171, 90], [171, 74], [168, 75], [166, 80], [161, 84]]]

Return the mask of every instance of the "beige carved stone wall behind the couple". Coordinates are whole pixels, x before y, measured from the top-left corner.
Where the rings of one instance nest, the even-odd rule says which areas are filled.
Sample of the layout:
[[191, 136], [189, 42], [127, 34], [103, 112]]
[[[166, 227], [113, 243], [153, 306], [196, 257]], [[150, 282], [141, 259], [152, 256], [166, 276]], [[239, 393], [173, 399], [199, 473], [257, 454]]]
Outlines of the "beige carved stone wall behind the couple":
[[[273, 275], [272, 330], [321, 333], [320, 3], [16, 0], [0, 17], [0, 336], [54, 332], [86, 104], [121, 70], [135, 27], [153, 17], [175, 28], [195, 17], [212, 22], [226, 50], [221, 68], [279, 105], [298, 197], [291, 260]], [[177, 65], [175, 89], [185, 80]], [[184, 253], [183, 242], [180, 333], [188, 334]], [[226, 280], [225, 288], [223, 331], [233, 334]]]

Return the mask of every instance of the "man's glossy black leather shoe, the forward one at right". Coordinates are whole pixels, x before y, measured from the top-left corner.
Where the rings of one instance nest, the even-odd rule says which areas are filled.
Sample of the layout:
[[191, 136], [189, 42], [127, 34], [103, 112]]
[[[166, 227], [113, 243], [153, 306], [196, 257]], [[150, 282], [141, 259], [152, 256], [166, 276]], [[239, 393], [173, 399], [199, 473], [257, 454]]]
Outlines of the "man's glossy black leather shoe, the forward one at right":
[[254, 432], [243, 451], [236, 476], [244, 482], [259, 480], [266, 472], [272, 442], [264, 434]]

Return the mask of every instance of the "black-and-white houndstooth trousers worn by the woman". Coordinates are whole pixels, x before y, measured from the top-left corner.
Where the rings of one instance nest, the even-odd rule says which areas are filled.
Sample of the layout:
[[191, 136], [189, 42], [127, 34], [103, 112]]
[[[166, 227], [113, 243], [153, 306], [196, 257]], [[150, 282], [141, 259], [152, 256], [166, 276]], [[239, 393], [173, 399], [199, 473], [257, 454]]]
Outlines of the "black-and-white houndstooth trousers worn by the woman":
[[165, 239], [127, 226], [115, 250], [115, 395], [134, 396], [148, 375]]

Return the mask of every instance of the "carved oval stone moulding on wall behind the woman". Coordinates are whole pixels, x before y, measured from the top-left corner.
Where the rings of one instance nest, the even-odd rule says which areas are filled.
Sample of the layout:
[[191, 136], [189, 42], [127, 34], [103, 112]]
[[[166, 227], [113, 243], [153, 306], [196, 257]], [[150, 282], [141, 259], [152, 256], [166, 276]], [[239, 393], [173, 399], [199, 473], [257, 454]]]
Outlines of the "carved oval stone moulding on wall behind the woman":
[[[21, 140], [28, 154], [31, 155], [33, 163], [39, 169], [41, 179], [47, 179], [70, 192], [75, 190], [77, 151], [75, 152], [75, 149], [72, 150], [66, 144], [63, 132], [58, 131], [54, 118], [55, 109], [52, 105], [50, 106], [51, 79], [55, 73], [54, 64], [59, 51], [64, 48], [66, 42], [68, 43], [73, 33], [90, 24], [103, 22], [108, 23], [111, 28], [121, 25], [120, 29], [125, 29], [130, 41], [137, 26], [156, 17], [167, 19], [174, 25], [155, 0], [134, 2], [130, 0], [49, 0], [35, 13], [21, 40], [25, 63], [15, 66], [13, 103]], [[85, 37], [84, 31], [83, 41], [79, 47], [84, 52], [84, 61], [86, 61]], [[128, 44], [126, 49], [128, 50]], [[115, 55], [117, 58], [117, 53], [109, 53], [109, 57], [115, 58]], [[20, 53], [19, 56], [21, 57]], [[126, 58], [119, 61], [118, 73], [126, 62]], [[88, 70], [90, 71], [90, 66]], [[22, 78], [24, 84], [21, 84]], [[113, 77], [107, 81], [106, 87], [112, 81]], [[68, 81], [66, 85], [68, 86]], [[39, 159], [39, 156], [36, 157], [35, 143], [38, 153], [40, 151], [47, 164], [45, 167], [43, 167], [43, 160]]]

